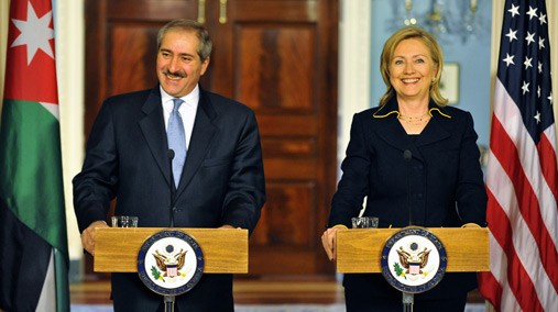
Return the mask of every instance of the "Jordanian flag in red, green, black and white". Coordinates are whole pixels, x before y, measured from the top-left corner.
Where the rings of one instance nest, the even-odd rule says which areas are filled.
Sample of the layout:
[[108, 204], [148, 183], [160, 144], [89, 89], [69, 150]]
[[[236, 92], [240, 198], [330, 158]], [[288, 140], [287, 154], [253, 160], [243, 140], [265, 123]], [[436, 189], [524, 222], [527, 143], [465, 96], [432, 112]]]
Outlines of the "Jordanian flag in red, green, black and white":
[[50, 0], [11, 0], [0, 125], [0, 310], [69, 311]]

